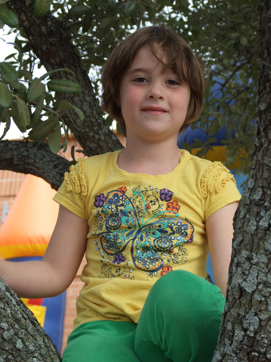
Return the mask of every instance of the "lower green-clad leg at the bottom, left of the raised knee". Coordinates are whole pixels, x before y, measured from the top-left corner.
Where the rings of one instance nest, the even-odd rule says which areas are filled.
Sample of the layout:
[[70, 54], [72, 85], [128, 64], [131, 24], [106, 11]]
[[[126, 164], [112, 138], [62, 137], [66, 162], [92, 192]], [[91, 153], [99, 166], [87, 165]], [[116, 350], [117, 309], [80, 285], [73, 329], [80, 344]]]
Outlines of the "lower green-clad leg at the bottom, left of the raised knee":
[[99, 320], [70, 334], [63, 362], [140, 362], [134, 353], [136, 323]]

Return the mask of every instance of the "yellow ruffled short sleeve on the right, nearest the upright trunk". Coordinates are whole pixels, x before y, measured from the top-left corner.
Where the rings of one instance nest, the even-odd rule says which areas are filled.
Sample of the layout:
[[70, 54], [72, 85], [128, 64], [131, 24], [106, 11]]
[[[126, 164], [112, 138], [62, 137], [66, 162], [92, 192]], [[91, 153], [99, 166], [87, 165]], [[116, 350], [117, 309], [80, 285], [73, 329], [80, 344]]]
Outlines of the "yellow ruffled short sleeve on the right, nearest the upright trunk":
[[215, 211], [241, 198], [233, 175], [218, 161], [213, 162], [203, 172], [201, 193], [205, 200], [205, 220]]

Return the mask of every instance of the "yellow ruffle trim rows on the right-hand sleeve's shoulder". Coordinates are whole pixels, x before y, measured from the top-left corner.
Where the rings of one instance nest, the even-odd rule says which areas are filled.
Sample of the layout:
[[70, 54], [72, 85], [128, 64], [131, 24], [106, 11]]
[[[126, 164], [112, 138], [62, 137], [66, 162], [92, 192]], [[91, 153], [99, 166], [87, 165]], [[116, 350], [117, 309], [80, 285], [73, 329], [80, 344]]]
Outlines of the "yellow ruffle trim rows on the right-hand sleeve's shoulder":
[[[210, 174], [211, 171], [214, 170], [214, 168], [217, 168], [215, 170], [214, 176], [212, 177], [212, 181], [211, 184], [209, 186], [209, 188], [207, 188], [207, 180], [208, 180], [208, 176]], [[219, 182], [218, 177], [219, 175], [223, 172], [227, 172], [227, 175], [220, 180]], [[202, 192], [202, 197], [206, 198], [208, 196], [208, 193], [218, 193], [223, 186], [228, 182], [232, 180], [235, 185], [236, 185], [236, 181], [233, 177], [233, 175], [230, 173], [230, 171], [227, 169], [227, 167], [225, 167], [221, 162], [219, 161], [215, 161], [213, 162], [203, 173], [202, 177], [201, 177], [201, 192]]]

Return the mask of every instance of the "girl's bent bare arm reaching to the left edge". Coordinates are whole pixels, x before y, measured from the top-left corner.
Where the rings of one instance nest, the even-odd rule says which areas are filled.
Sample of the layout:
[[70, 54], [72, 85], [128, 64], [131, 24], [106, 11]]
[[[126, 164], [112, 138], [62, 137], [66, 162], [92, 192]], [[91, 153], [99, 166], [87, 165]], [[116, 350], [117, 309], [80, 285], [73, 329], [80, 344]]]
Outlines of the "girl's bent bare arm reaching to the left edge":
[[72, 283], [86, 250], [87, 220], [60, 205], [41, 261], [0, 260], [0, 277], [23, 298], [48, 298]]

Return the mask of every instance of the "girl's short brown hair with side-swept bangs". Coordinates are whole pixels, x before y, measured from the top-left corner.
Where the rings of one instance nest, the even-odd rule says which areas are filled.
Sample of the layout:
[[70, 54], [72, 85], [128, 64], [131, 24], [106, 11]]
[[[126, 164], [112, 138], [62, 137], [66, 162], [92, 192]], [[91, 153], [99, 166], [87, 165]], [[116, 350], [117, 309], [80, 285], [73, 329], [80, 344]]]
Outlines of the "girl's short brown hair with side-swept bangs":
[[[184, 39], [163, 24], [140, 28], [113, 49], [101, 77], [102, 107], [111, 118], [120, 123], [122, 132], [126, 135], [125, 122], [117, 99], [122, 78], [130, 68], [134, 56], [143, 46], [149, 46], [152, 54], [164, 65], [164, 69], [172, 68], [180, 81], [190, 87], [188, 111], [180, 129], [180, 132], [184, 131], [202, 111], [209, 71], [206, 64], [193, 53]], [[166, 59], [166, 63], [159, 58], [159, 49], [162, 49], [166, 55], [163, 58]]]

